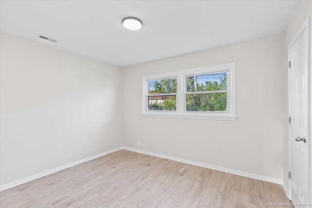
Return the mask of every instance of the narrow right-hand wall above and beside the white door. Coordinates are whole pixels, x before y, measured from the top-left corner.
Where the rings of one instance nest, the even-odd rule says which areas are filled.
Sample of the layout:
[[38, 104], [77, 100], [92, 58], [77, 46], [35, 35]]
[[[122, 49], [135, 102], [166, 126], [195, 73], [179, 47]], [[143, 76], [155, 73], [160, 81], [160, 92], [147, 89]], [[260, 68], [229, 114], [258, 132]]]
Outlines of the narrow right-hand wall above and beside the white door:
[[[299, 1], [297, 8], [294, 12], [294, 15], [287, 27], [287, 30], [285, 32], [285, 57], [288, 60], [288, 46], [290, 44], [290, 42], [292, 41], [292, 38], [296, 35], [296, 33], [298, 32], [298, 30], [300, 29], [300, 27], [302, 26], [302, 24], [305, 22], [305, 20], [310, 17], [312, 18], [312, 1], [311, 0], [301, 0]], [[311, 37], [310, 37], [310, 42], [312, 43], [312, 19], [310, 21], [311, 25], [310, 25], [310, 29], [311, 29]], [[312, 70], [312, 53], [310, 54], [310, 70]], [[286, 62], [287, 64], [287, 62]], [[285, 66], [285, 71], [288, 70], [287, 65]], [[311, 75], [311, 80], [312, 80], [312, 73], [310, 72]], [[285, 88], [288, 87], [288, 75], [286, 76], [286, 78], [284, 79], [284, 86]], [[288, 92], [285, 92], [286, 95], [288, 95]], [[312, 90], [311, 90], [311, 98], [312, 98]], [[287, 105], [285, 106], [285, 111], [288, 113], [288, 97], [286, 96], [286, 99], [284, 101], [285, 103], [287, 103]], [[310, 107], [310, 112], [312, 112], [312, 101], [311, 103], [311, 107]], [[286, 188], [288, 188], [288, 171], [289, 171], [289, 167], [288, 167], [288, 139], [289, 139], [289, 135], [288, 135], [288, 114], [285, 113], [286, 118], [284, 119], [284, 185]], [[312, 119], [312, 116], [311, 116]], [[312, 120], [311, 120], [311, 124], [312, 124]], [[312, 132], [310, 133], [310, 135], [312, 135]], [[310, 145], [312, 145], [312, 142], [310, 142]], [[312, 146], [310, 147], [310, 149], [312, 149]], [[312, 154], [310, 152], [310, 158], [312, 158]], [[311, 159], [311, 168], [312, 168], [312, 159]], [[312, 170], [310, 170], [310, 172], [312, 172]], [[310, 180], [312, 181], [312, 178], [310, 178]], [[312, 182], [310, 181], [310, 190], [312, 193]], [[310, 199], [310, 201], [312, 202], [312, 198]]]

